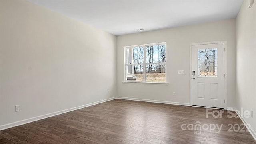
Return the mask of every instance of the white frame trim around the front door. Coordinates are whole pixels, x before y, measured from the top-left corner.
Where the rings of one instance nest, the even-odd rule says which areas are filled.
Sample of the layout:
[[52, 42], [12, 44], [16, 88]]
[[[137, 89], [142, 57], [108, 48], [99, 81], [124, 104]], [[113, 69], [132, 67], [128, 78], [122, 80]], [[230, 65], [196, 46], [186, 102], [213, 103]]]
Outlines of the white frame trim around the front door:
[[[227, 52], [228, 46], [227, 41], [212, 41], [212, 42], [203, 42], [203, 43], [190, 43], [189, 46], [189, 86], [190, 86], [190, 106], [192, 106], [192, 46], [193, 45], [207, 45], [207, 44], [217, 44], [217, 43], [224, 43], [224, 109], [227, 109]], [[198, 106], [192, 106], [198, 107]]]

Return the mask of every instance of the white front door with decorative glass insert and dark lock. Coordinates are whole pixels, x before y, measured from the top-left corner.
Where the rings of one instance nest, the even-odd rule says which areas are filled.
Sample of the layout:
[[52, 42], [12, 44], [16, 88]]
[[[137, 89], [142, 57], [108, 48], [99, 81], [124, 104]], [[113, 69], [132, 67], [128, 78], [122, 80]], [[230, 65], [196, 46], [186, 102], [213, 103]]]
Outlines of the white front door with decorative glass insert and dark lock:
[[224, 43], [192, 45], [192, 105], [224, 108]]

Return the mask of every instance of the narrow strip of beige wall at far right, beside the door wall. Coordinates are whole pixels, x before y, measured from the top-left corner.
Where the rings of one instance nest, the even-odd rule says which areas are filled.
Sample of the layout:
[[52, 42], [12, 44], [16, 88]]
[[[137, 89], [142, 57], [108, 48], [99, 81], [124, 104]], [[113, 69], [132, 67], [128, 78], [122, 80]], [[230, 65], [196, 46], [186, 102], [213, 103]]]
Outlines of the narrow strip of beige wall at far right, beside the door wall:
[[256, 4], [247, 8], [245, 0], [236, 18], [236, 109], [251, 111], [253, 118], [243, 117], [254, 130], [256, 139]]

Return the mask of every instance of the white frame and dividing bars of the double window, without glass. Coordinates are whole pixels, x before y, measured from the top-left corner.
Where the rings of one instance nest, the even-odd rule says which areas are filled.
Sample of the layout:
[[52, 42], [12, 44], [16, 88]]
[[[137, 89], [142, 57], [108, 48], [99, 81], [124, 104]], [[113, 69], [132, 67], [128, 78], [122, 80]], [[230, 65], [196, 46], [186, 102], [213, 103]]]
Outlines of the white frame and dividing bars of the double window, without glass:
[[[166, 62], [159, 62], [159, 63], [146, 63], [146, 46], [150, 45], [166, 45]], [[144, 53], [144, 61], [143, 63], [139, 64], [128, 64], [127, 63], [127, 53], [126, 49], [127, 48], [132, 48], [132, 47], [143, 47], [143, 53]], [[132, 46], [126, 46], [124, 47], [124, 81], [123, 82], [128, 82], [128, 83], [153, 83], [153, 84], [168, 84], [167, 82], [167, 43], [162, 42], [162, 43], [150, 43], [150, 44], [144, 44], [144, 45], [132, 45]], [[146, 81], [146, 65], [147, 64], [164, 64], [165, 65], [165, 82], [152, 82], [152, 81]], [[143, 65], [143, 81], [132, 81], [132, 80], [127, 80], [127, 66], [129, 65]]]

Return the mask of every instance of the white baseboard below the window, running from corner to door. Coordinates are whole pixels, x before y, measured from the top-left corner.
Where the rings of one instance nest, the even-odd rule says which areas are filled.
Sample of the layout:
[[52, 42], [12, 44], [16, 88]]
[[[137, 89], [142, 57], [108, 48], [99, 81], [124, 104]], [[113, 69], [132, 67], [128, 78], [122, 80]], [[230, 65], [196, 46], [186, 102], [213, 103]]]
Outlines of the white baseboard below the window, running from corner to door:
[[171, 101], [157, 101], [157, 100], [150, 100], [150, 99], [136, 99], [130, 97], [116, 97], [116, 99], [125, 99], [125, 100], [132, 100], [132, 101], [145, 101], [151, 103], [164, 103], [164, 104], [171, 104], [171, 105], [184, 105], [190, 106], [190, 103], [178, 103], [178, 102], [171, 102]]

